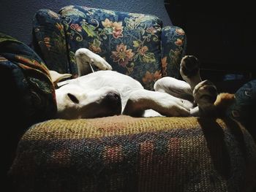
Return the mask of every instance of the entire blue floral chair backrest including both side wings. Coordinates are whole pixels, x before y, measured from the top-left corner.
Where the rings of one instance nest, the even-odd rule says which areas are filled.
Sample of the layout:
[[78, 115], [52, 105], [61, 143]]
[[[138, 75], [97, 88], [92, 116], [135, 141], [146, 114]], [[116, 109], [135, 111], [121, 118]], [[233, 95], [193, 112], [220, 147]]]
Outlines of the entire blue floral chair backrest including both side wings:
[[75, 51], [86, 47], [149, 90], [162, 76], [178, 77], [186, 44], [181, 28], [162, 28], [154, 15], [80, 6], [39, 10], [34, 37], [49, 69], [78, 77]]

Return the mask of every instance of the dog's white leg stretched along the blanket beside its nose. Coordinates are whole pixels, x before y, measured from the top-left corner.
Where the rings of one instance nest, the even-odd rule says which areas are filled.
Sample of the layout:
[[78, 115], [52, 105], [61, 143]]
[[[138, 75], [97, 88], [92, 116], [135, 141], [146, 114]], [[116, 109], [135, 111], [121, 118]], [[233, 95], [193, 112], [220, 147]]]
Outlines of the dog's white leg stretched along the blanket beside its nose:
[[154, 110], [165, 116], [189, 116], [189, 107], [182, 99], [167, 93], [145, 89], [132, 91], [124, 108], [124, 115], [143, 116], [145, 110]]

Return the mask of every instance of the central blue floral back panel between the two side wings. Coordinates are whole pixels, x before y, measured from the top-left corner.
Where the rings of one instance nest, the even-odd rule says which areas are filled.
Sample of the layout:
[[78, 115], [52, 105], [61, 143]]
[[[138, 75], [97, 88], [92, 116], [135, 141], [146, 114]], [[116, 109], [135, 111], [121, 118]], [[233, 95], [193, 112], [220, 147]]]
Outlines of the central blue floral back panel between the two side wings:
[[67, 36], [70, 69], [78, 74], [75, 51], [87, 47], [101, 55], [113, 70], [153, 89], [161, 76], [162, 21], [153, 15], [117, 12], [80, 6], [60, 11]]

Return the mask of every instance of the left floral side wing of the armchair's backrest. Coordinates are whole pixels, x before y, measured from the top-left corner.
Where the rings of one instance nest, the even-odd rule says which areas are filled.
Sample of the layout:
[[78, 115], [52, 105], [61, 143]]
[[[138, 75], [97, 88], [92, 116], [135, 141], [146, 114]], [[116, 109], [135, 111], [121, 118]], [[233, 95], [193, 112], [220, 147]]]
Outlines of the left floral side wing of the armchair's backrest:
[[39, 9], [33, 20], [34, 50], [48, 69], [69, 73], [69, 60], [61, 17], [50, 9]]

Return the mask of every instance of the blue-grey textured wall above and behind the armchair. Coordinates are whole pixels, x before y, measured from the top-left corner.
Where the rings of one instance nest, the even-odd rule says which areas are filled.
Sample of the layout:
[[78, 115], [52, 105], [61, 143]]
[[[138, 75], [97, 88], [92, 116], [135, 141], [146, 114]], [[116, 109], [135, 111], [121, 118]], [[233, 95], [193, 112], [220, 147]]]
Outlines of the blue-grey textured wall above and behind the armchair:
[[171, 21], [165, 9], [164, 1], [165, 0], [2, 1], [0, 6], [0, 31], [29, 44], [31, 42], [32, 20], [38, 9], [51, 9], [54, 12], [58, 12], [61, 7], [71, 4], [156, 15], [163, 21], [164, 26], [169, 26], [171, 25]]

